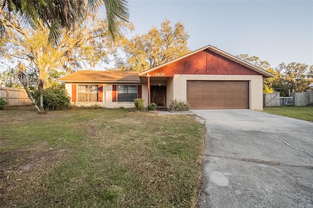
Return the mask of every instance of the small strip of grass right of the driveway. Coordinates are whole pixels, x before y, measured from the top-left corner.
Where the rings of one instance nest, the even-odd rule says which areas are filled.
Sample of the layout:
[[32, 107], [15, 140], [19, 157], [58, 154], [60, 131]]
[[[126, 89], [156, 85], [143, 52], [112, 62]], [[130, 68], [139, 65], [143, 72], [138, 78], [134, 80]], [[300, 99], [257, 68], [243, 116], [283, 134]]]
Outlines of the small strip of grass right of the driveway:
[[264, 112], [313, 122], [313, 106], [265, 107]]

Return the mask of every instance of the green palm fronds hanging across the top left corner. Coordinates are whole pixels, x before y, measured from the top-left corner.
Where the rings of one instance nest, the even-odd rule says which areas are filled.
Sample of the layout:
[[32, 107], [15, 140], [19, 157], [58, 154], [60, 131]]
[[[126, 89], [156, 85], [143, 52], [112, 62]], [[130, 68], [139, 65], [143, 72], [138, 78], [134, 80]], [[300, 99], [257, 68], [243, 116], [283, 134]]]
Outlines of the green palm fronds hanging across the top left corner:
[[[3, 0], [0, 3], [1, 18], [18, 18], [22, 25], [33, 28], [48, 27], [48, 42], [61, 42], [64, 30], [81, 25], [89, 13], [105, 5], [108, 21], [108, 37], [115, 41], [121, 36], [119, 21], [129, 20], [127, 0]], [[0, 22], [0, 35], [7, 35], [7, 28]]]

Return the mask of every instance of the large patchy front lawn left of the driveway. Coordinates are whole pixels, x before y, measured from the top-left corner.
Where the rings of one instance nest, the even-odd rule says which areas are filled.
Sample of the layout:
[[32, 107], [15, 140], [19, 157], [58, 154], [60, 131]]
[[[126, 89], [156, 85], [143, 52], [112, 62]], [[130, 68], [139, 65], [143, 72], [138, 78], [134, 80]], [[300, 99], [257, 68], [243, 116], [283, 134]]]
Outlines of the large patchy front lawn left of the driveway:
[[3, 207], [195, 207], [204, 125], [191, 115], [0, 112]]

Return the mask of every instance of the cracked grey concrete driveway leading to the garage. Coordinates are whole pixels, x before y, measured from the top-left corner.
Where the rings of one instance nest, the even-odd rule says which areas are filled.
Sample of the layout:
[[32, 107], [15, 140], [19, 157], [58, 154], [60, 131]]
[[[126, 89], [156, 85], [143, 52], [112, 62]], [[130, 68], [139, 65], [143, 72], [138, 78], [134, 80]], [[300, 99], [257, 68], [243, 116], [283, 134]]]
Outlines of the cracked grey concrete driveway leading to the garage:
[[206, 120], [198, 208], [313, 208], [313, 123], [252, 110]]

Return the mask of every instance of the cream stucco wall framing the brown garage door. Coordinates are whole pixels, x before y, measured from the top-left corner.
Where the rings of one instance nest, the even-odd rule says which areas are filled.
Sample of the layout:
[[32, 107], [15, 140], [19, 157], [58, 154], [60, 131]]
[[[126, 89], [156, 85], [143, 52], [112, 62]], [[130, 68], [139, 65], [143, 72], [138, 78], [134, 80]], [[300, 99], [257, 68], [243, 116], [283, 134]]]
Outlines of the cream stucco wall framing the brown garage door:
[[187, 100], [187, 80], [249, 81], [249, 108], [251, 110], [263, 110], [262, 75], [174, 75], [174, 98]]

